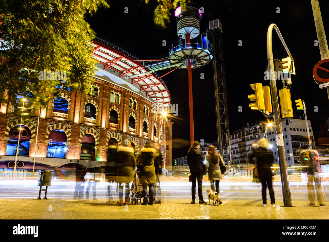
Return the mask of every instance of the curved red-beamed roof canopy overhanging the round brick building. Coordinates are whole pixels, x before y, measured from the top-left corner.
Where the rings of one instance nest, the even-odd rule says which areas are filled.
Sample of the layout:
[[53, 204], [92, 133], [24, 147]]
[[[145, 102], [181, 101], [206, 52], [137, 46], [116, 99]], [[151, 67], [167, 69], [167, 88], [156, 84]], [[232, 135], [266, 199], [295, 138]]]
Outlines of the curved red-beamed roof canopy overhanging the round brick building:
[[[118, 77], [138, 88], [146, 97], [152, 99], [159, 107], [167, 107], [170, 103], [170, 94], [163, 79], [144, 66], [144, 61], [130, 51], [119, 47], [112, 42], [95, 38], [92, 42], [93, 58], [102, 65], [103, 70], [113, 69]], [[145, 60], [148, 61], [148, 60]], [[145, 73], [145, 74], [143, 74]], [[136, 76], [138, 75], [138, 76]], [[130, 76], [132, 76], [130, 78]]]

